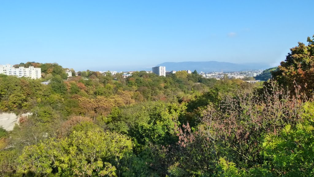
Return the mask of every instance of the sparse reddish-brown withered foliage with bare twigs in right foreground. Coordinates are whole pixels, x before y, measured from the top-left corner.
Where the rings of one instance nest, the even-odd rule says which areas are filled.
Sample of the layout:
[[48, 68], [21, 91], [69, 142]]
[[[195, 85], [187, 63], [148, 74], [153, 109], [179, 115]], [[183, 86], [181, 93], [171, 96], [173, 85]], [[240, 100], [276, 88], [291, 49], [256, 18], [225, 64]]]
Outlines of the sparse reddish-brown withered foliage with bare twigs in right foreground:
[[[181, 147], [204, 143], [215, 152], [215, 143], [223, 142], [228, 153], [235, 153], [241, 162], [256, 161], [259, 157], [261, 135], [277, 133], [286, 124], [300, 120], [304, 100], [296, 89], [295, 94], [272, 84], [263, 96], [255, 92], [239, 92], [237, 96], [226, 95], [220, 105], [208, 105], [203, 111], [197, 131], [188, 126], [177, 127], [178, 144]], [[297, 87], [298, 88], [298, 87]], [[292, 95], [292, 96], [291, 96]], [[304, 98], [304, 97], [303, 97]], [[250, 154], [250, 156], [247, 156]]]

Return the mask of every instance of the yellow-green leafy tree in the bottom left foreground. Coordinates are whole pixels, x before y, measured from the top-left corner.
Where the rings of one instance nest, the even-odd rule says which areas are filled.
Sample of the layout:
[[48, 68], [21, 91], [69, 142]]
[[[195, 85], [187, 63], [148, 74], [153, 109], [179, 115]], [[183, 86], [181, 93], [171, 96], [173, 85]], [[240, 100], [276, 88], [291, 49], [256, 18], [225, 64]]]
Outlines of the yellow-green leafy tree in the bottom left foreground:
[[47, 176], [116, 176], [123, 157], [132, 150], [127, 137], [99, 129], [74, 131], [69, 138], [51, 138], [26, 146], [18, 172]]

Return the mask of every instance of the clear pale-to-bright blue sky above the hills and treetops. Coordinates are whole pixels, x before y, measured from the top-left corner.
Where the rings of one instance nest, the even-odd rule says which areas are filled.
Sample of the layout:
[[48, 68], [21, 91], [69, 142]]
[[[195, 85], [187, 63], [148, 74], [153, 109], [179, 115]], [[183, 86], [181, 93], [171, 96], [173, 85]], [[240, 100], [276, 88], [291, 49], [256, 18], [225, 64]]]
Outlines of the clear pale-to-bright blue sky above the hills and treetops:
[[163, 62], [278, 65], [314, 34], [314, 1], [0, 1], [0, 64], [134, 70]]

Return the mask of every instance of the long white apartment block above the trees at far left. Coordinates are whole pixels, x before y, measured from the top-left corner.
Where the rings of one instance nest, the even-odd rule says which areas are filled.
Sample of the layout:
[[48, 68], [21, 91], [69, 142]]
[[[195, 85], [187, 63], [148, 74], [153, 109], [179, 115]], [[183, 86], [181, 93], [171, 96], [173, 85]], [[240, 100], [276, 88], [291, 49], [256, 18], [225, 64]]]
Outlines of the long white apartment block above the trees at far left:
[[28, 68], [25, 68], [23, 66], [20, 66], [19, 68], [14, 68], [13, 65], [0, 65], [0, 74], [38, 79], [41, 78], [41, 68], [34, 68], [34, 66], [30, 66]]

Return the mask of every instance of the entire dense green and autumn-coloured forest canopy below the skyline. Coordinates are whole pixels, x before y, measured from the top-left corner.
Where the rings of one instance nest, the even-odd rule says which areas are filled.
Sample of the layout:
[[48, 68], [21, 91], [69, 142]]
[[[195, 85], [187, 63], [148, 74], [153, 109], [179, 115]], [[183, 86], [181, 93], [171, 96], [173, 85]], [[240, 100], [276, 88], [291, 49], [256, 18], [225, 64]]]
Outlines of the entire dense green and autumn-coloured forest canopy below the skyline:
[[0, 176], [313, 176], [313, 39], [256, 84], [16, 65], [51, 82], [0, 75], [1, 112], [32, 113], [0, 128]]

